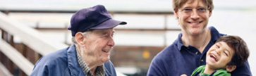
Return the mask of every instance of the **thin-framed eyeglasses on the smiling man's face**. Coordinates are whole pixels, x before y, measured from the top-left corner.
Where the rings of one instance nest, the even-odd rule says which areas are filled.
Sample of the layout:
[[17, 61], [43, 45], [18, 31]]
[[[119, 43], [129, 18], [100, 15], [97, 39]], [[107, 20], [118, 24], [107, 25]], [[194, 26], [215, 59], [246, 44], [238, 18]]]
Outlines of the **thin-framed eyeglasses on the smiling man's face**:
[[188, 14], [188, 15], [191, 15], [191, 13], [193, 13], [193, 10], [196, 9], [197, 13], [198, 14], [202, 14], [202, 13], [206, 13], [207, 12], [207, 8], [205, 7], [201, 7], [201, 8], [181, 8], [181, 12], [182, 13], [185, 13], [185, 14]]

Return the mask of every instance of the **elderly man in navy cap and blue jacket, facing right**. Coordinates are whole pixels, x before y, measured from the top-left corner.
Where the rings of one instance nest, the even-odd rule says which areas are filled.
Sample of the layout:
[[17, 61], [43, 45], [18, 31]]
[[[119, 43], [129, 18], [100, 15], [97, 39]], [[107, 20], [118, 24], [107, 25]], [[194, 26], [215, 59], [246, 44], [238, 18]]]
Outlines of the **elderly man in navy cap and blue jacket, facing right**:
[[109, 53], [114, 46], [113, 20], [102, 5], [84, 8], [71, 18], [71, 46], [49, 53], [37, 61], [33, 76], [116, 76]]

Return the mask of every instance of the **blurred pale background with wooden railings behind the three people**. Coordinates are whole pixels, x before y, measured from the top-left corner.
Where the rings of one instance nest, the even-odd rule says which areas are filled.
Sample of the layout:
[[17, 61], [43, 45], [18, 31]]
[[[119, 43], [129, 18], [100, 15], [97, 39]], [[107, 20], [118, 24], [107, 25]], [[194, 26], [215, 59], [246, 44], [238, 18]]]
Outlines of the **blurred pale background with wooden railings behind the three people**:
[[[111, 61], [118, 73], [145, 76], [152, 58], [181, 32], [171, 0], [0, 0], [1, 41], [6, 41], [0, 42], [0, 74], [29, 75], [41, 56], [72, 44], [66, 29], [71, 16], [97, 4], [104, 5], [112, 18], [128, 23], [116, 27], [114, 35]], [[247, 42], [252, 75], [256, 75], [255, 18], [255, 0], [217, 0], [208, 23]]]

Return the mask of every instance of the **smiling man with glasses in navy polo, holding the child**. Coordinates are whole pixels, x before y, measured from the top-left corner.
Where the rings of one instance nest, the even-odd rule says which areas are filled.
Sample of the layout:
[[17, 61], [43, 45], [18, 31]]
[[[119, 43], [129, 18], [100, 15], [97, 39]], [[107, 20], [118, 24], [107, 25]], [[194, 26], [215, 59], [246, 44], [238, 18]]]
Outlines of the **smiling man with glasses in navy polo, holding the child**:
[[[181, 34], [152, 60], [148, 76], [191, 75], [200, 65], [206, 65], [208, 49], [224, 36], [214, 27], [207, 28], [214, 6], [212, 0], [173, 0], [174, 15]], [[238, 66], [231, 75], [251, 75], [248, 62]]]

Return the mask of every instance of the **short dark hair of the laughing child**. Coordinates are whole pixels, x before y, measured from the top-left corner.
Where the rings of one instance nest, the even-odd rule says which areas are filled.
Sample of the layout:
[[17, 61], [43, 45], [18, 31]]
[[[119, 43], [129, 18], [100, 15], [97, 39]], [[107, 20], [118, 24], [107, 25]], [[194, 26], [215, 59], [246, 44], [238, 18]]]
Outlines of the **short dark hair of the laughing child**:
[[227, 65], [242, 65], [249, 57], [249, 50], [247, 44], [238, 36], [223, 36], [217, 42], [226, 42], [228, 46], [234, 51], [231, 62]]

